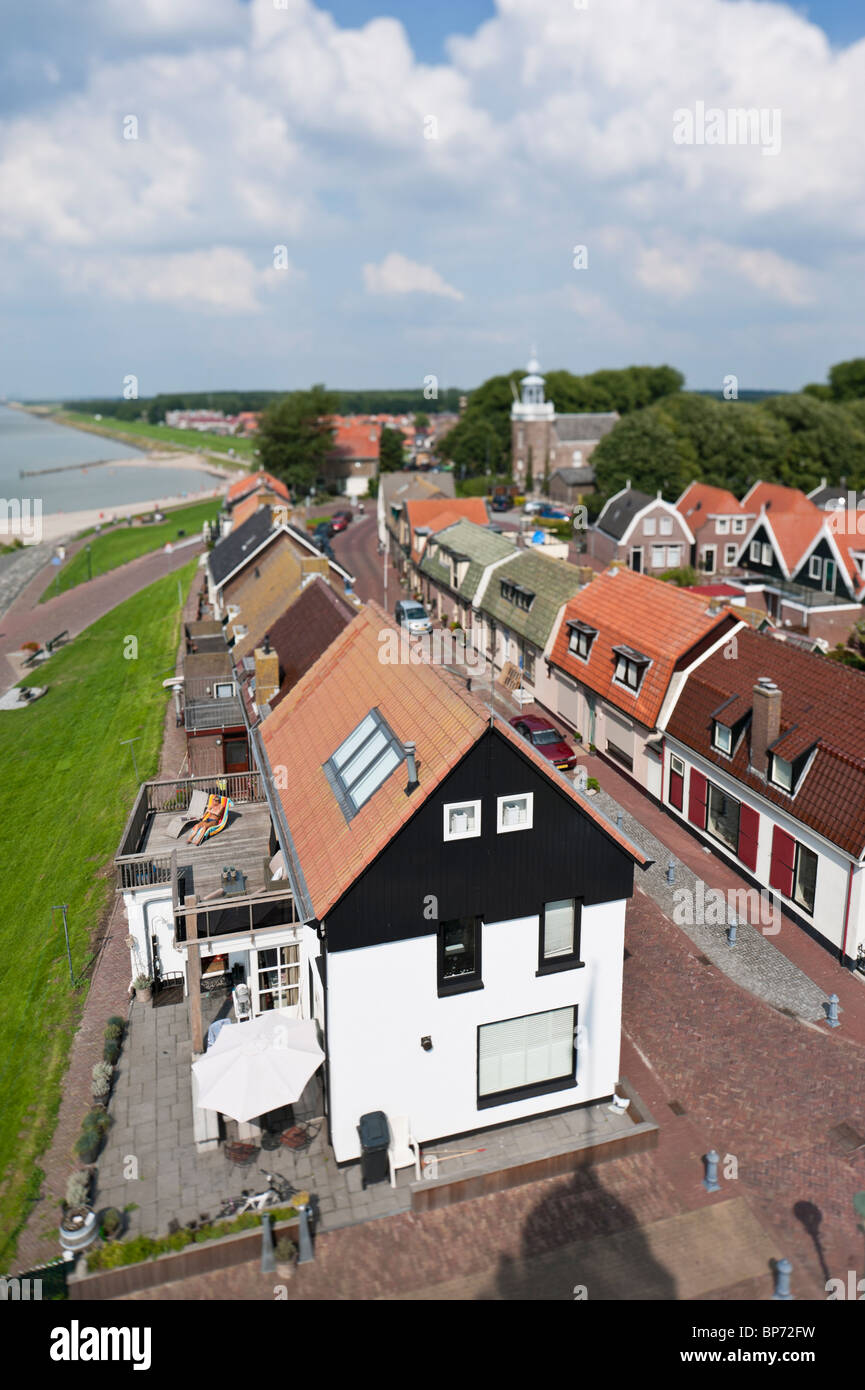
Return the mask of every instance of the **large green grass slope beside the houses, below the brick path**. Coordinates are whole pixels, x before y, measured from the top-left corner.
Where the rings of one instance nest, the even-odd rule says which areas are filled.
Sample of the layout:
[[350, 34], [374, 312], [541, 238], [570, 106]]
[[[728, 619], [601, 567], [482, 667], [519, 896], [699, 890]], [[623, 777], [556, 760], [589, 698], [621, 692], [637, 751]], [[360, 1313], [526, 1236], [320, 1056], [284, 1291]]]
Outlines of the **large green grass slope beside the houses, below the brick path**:
[[[178, 571], [184, 596], [195, 570], [192, 560]], [[159, 767], [161, 682], [179, 641], [177, 580], [118, 605], [28, 677], [49, 687], [32, 709], [0, 710], [0, 1269], [39, 1190], [95, 931], [114, 898], [110, 863], [138, 785], [121, 739], [138, 738], [142, 778]], [[136, 659], [124, 655], [132, 637]], [[64, 902], [75, 990], [63, 917], [51, 912]], [[45, 1226], [60, 1213], [42, 1215]]]

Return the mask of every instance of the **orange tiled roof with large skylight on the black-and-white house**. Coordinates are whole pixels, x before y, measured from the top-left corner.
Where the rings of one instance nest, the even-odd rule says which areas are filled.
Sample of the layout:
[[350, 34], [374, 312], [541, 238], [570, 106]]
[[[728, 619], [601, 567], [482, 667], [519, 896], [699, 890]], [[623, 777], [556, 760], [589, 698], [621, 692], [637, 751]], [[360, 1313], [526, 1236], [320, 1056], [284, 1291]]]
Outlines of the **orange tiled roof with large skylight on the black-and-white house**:
[[[381, 662], [382, 638], [398, 642], [399, 630], [377, 603], [366, 605], [337, 637], [277, 709], [263, 721], [260, 738], [274, 776], [292, 855], [309, 902], [302, 910], [323, 920], [357, 876], [378, 858], [490, 727], [490, 713], [442, 667], [426, 662]], [[396, 739], [417, 748], [419, 785], [406, 796], [406, 767], [399, 763], [369, 801], [346, 819], [325, 764], [339, 746], [378, 710]], [[496, 730], [538, 771], [567, 795], [638, 865], [642, 851], [549, 770], [516, 730]]]

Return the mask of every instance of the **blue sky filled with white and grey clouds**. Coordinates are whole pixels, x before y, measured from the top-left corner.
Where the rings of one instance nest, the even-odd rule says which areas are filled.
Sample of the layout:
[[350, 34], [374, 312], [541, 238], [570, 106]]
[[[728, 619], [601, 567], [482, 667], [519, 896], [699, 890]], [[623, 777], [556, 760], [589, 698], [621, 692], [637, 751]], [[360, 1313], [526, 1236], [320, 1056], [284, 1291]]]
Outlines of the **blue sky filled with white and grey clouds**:
[[797, 389], [865, 354], [861, 0], [0, 24], [0, 398], [434, 391], [533, 346]]

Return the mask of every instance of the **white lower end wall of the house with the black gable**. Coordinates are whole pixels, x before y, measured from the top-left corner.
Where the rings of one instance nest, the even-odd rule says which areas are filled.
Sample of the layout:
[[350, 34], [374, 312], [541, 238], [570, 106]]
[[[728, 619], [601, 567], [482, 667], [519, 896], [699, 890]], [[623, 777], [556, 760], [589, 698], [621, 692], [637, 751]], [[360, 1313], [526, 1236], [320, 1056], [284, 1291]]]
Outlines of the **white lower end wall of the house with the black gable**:
[[[485, 923], [484, 988], [437, 997], [437, 937], [328, 955], [330, 1112], [339, 1162], [367, 1111], [407, 1115], [420, 1143], [611, 1095], [619, 1080], [624, 901], [583, 912], [584, 967], [535, 977], [538, 919]], [[577, 1086], [477, 1106], [477, 1029], [577, 1005]], [[420, 1040], [432, 1038], [424, 1052]]]

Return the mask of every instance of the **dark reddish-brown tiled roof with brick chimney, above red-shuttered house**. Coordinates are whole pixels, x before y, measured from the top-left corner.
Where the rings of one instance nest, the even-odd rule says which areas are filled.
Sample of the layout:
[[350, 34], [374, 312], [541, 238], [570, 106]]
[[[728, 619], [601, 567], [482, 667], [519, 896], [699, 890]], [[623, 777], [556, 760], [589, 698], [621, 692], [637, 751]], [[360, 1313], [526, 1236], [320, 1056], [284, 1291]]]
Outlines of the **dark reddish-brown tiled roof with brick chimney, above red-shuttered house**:
[[[750, 628], [740, 628], [736, 644], [736, 660], [716, 652], [688, 676], [668, 734], [859, 859], [865, 851], [865, 674]], [[750, 771], [748, 734], [731, 759], [712, 748], [712, 713], [731, 695], [743, 709], [751, 708], [761, 676], [782, 692], [779, 753], [797, 756], [816, 746], [795, 796]]]

